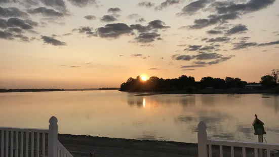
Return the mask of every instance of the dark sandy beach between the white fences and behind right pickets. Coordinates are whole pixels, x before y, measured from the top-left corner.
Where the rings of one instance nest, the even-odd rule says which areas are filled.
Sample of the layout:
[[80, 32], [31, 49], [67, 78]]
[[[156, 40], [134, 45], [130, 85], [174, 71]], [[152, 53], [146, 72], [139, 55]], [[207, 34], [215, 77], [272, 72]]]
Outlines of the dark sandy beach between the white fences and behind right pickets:
[[[197, 156], [196, 143], [133, 140], [69, 134], [59, 134], [58, 139], [74, 157], [90, 156], [90, 152], [95, 152], [95, 157]], [[242, 148], [235, 147], [234, 150], [235, 156], [242, 156]], [[253, 151], [253, 149], [246, 148], [246, 156], [253, 156]], [[212, 156], [219, 156], [219, 146], [213, 146], [212, 152]], [[230, 156], [230, 147], [223, 147], [223, 156]]]

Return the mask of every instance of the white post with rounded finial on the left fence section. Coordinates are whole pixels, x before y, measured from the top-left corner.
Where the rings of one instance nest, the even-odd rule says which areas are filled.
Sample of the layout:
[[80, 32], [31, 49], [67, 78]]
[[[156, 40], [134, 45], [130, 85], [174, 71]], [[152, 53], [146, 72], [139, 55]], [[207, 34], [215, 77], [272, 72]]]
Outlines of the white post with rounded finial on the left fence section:
[[58, 125], [57, 118], [52, 116], [49, 120], [48, 157], [57, 157], [58, 151]]

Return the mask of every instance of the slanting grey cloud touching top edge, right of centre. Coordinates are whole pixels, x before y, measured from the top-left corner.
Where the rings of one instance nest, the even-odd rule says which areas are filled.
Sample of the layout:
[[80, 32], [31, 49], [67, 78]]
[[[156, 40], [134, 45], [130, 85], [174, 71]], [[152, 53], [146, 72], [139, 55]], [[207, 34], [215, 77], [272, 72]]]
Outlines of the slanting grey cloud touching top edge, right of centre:
[[209, 4], [210, 2], [211, 1], [209, 1], [209, 0], [194, 1], [194, 2], [186, 5], [185, 7], [183, 7], [181, 12], [177, 13], [176, 15], [178, 15], [178, 16], [192, 16], [192, 15], [196, 14], [198, 11], [200, 11], [201, 9], [204, 9], [207, 6], [207, 4]]

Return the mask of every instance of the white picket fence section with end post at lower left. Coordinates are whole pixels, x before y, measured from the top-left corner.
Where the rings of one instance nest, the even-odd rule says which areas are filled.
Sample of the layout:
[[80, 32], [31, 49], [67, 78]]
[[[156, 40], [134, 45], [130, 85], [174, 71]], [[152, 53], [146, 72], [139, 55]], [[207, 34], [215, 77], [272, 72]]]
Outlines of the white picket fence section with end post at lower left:
[[58, 141], [55, 116], [49, 129], [0, 127], [1, 157], [73, 157]]

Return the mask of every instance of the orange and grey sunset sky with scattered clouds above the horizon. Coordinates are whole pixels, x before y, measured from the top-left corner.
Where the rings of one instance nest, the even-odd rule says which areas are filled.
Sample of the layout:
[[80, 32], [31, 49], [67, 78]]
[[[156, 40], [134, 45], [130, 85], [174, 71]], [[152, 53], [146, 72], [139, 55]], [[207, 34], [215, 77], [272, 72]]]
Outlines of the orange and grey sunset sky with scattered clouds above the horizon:
[[137, 75], [279, 68], [275, 0], [0, 0], [0, 88], [119, 87]]

